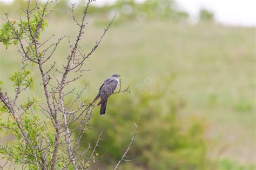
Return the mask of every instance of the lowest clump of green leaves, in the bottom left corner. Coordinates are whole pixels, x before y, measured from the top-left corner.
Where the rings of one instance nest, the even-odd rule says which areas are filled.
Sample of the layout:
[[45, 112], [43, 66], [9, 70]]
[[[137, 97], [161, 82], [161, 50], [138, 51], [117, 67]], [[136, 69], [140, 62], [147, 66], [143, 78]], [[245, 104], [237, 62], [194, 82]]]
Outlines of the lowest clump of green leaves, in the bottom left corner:
[[[4, 111], [3, 106], [0, 106], [0, 138], [8, 136], [15, 137], [12, 140], [6, 140], [5, 144], [0, 146], [1, 158], [13, 162], [14, 164], [24, 164], [25, 169], [37, 169], [35, 162], [45, 159], [49, 164], [51, 162], [51, 155], [53, 152], [53, 143], [55, 136], [54, 130], [51, 130], [47, 123], [39, 120], [39, 117], [29, 113], [24, 113], [20, 117], [23, 125], [23, 131], [28, 135], [31, 145], [25, 142], [18, 124], [14, 117]], [[41, 148], [37, 148], [39, 144], [44, 143], [49, 145], [47, 147], [46, 155], [44, 155]], [[59, 151], [58, 154], [61, 154]], [[37, 157], [35, 157], [37, 155]], [[28, 164], [29, 162], [29, 164]], [[63, 160], [58, 160], [58, 166], [62, 166]], [[42, 167], [41, 167], [42, 168]]]

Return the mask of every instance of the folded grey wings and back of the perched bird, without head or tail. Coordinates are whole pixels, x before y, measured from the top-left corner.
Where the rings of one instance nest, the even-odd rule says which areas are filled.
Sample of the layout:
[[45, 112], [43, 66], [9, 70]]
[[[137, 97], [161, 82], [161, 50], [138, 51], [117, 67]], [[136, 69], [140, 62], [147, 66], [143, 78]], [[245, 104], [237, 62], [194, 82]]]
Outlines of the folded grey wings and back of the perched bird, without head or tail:
[[114, 79], [106, 79], [104, 81], [104, 84], [100, 87], [99, 90], [99, 97], [101, 100], [99, 101], [98, 105], [104, 103], [104, 101], [107, 100], [107, 98], [110, 97], [110, 95], [116, 90], [118, 85], [118, 82]]

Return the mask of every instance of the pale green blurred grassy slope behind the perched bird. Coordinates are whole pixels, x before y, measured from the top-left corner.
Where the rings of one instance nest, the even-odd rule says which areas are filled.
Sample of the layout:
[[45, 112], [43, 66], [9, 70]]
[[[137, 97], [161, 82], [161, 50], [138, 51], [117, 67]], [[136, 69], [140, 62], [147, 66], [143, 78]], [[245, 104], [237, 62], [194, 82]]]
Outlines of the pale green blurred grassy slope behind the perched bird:
[[[53, 24], [53, 25], [52, 25]], [[69, 21], [50, 21], [56, 35], [68, 32], [75, 38], [76, 28]], [[82, 47], [91, 48], [103, 26], [88, 26]], [[111, 73], [123, 77], [123, 85], [136, 90], [146, 87], [144, 78], [162, 87], [176, 75], [171, 95], [183, 98], [180, 115], [199, 114], [208, 120], [209, 135], [218, 147], [228, 143], [225, 155], [241, 162], [253, 162], [255, 151], [255, 28], [220, 25], [173, 24], [166, 21], [113, 25], [99, 49], [87, 61], [81, 87], [90, 81], [95, 95], [101, 81]], [[68, 43], [63, 43], [55, 60], [62, 65]], [[16, 70], [17, 52], [1, 45], [1, 79]], [[37, 75], [37, 72], [35, 72]], [[96, 77], [96, 78], [95, 78]], [[38, 79], [39, 80], [39, 79]], [[6, 83], [6, 89], [11, 84]], [[36, 88], [36, 90], [39, 87]], [[37, 93], [41, 93], [37, 91]], [[219, 142], [221, 139], [221, 142]], [[222, 140], [224, 139], [224, 140]]]

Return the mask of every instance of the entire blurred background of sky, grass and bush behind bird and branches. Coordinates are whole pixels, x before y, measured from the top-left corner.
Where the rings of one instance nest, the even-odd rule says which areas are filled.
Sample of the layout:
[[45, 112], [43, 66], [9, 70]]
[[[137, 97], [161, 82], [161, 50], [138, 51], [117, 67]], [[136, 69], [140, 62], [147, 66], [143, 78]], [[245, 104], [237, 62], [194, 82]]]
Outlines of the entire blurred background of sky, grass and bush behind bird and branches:
[[[72, 2], [58, 1], [44, 39], [54, 33], [75, 40]], [[86, 2], [75, 2], [79, 18]], [[8, 11], [13, 19], [23, 17], [19, 5], [26, 2], [2, 0], [1, 16]], [[105, 117], [99, 108], [93, 111], [84, 147], [104, 130], [97, 151], [105, 154], [95, 169], [116, 165], [140, 114], [129, 151], [132, 161], [120, 169], [255, 169], [255, 6], [254, 1], [228, 0], [92, 2], [80, 44], [85, 52], [117, 16], [86, 61], [90, 71], [72, 87], [78, 91], [89, 83], [82, 99], [91, 101], [103, 80], [118, 73], [122, 88], [131, 91], [110, 97]], [[21, 57], [16, 47], [0, 48], [0, 78], [13, 94], [9, 77]], [[68, 51], [66, 38], [53, 59], [57, 67]], [[28, 94], [44, 101], [37, 68], [31, 70], [37, 85]]]

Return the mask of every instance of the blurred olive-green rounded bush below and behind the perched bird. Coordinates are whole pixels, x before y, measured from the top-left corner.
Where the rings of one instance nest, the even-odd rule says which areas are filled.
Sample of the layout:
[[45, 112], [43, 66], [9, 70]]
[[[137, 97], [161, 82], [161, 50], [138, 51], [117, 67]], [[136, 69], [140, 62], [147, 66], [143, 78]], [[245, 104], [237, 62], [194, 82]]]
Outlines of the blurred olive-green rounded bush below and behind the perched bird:
[[204, 124], [196, 118], [177, 118], [183, 107], [177, 99], [170, 99], [165, 105], [159, 94], [131, 95], [111, 97], [106, 115], [96, 112], [91, 122], [94, 130], [84, 137], [84, 142], [92, 144], [104, 130], [97, 151], [99, 155], [106, 153], [104, 164], [111, 165], [122, 157], [130, 142], [127, 137], [134, 129], [132, 121], [142, 113], [138, 135], [129, 151], [133, 168], [204, 169], [208, 162]]

